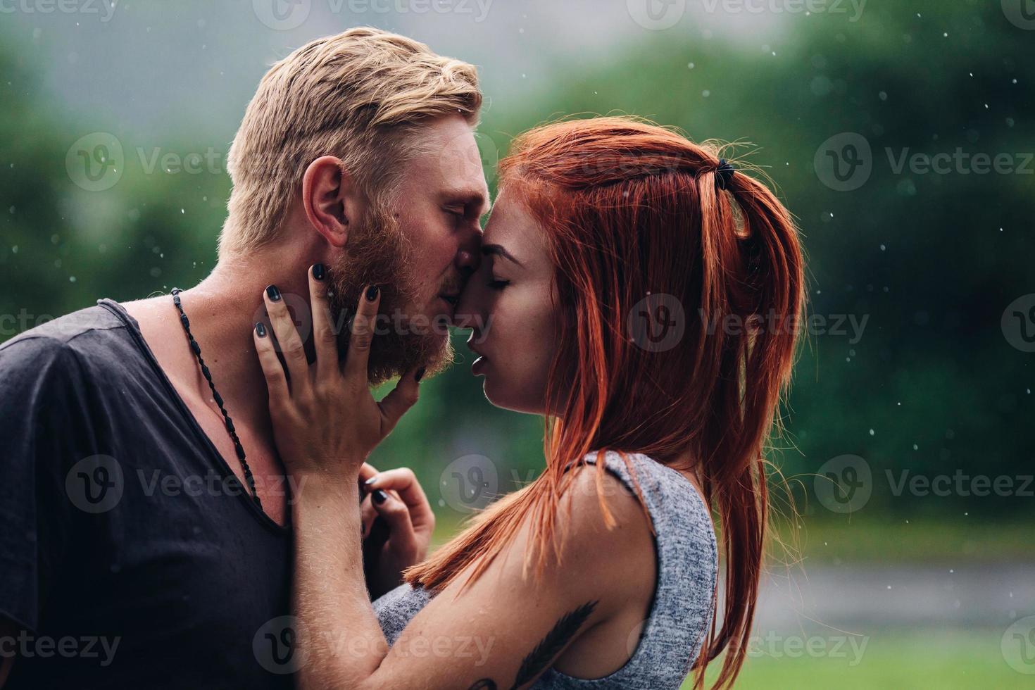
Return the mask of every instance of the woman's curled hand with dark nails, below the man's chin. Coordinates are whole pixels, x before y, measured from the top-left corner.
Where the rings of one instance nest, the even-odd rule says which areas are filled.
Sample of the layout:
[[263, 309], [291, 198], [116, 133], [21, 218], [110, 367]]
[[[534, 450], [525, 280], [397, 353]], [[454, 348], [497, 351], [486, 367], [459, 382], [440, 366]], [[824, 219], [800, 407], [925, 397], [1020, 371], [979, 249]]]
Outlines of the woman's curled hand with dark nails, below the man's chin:
[[373, 598], [403, 583], [403, 571], [427, 557], [435, 531], [435, 513], [409, 468], [379, 473], [364, 463], [360, 486], [363, 570]]

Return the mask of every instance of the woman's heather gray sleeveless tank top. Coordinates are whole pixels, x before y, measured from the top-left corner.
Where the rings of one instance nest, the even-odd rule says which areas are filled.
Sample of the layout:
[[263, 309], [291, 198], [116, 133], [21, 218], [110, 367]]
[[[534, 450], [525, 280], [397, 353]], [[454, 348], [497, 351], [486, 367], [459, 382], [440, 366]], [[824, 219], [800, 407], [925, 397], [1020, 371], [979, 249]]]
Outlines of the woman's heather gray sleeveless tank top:
[[[628, 662], [614, 673], [586, 680], [548, 669], [531, 686], [537, 689], [596, 688], [658, 690], [679, 688], [698, 658], [711, 624], [718, 569], [710, 511], [693, 485], [679, 472], [647, 455], [628, 454], [657, 533], [657, 582], [650, 614]], [[596, 454], [586, 456], [593, 463]], [[618, 453], [605, 455], [608, 470], [630, 490], [628, 470]], [[421, 588], [401, 584], [374, 602], [389, 644], [430, 600]]]

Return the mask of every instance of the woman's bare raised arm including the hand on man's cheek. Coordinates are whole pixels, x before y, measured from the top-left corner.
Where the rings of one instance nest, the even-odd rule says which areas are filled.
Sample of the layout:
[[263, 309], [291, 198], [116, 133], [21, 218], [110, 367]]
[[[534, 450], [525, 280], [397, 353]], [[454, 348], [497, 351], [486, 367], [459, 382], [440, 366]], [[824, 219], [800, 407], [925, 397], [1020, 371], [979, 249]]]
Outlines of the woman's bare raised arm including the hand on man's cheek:
[[[309, 367], [283, 303], [267, 299], [272, 330], [290, 372], [290, 390], [275, 349], [257, 334], [266, 373], [274, 436], [302, 490], [294, 497], [296, 654], [302, 688], [510, 688], [527, 685], [580, 633], [607, 621], [623, 602], [641, 564], [630, 546], [643, 539], [603, 527], [595, 482], [574, 482], [561, 565], [526, 576], [523, 530], [461, 594], [464, 573], [424, 607], [388, 650], [367, 599], [360, 550], [357, 476], [363, 459], [416, 399], [415, 377], [404, 377], [385, 400], [366, 387], [367, 325], [377, 296], [362, 300], [344, 368], [321, 282], [310, 274], [317, 362]], [[348, 411], [343, 415], [341, 411]], [[626, 501], [627, 499], [627, 501]], [[626, 497], [632, 519], [643, 520]], [[645, 531], [644, 524], [640, 526]], [[642, 537], [642, 535], [640, 535]], [[600, 545], [607, 540], [607, 548]], [[649, 538], [648, 538], [649, 543]], [[651, 547], [652, 548], [652, 547]], [[629, 570], [631, 568], [631, 571]], [[616, 572], [617, 571], [617, 572]], [[631, 584], [630, 584], [631, 583]]]

